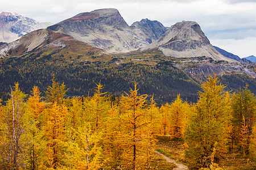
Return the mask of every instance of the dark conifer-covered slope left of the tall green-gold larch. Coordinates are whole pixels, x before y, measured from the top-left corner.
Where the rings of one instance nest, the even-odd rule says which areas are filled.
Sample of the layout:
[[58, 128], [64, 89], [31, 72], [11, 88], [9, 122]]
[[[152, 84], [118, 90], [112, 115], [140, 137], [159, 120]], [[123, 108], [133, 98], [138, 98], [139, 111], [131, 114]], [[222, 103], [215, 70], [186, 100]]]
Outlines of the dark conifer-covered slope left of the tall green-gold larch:
[[88, 92], [92, 95], [95, 83], [100, 81], [110, 95], [119, 96], [123, 91], [129, 91], [136, 81], [142, 94], [155, 94], [159, 103], [172, 101], [177, 94], [196, 101], [200, 87], [182, 71], [163, 70], [136, 62], [113, 66], [106, 62], [71, 62], [62, 57], [47, 56], [40, 59], [9, 58], [1, 61], [0, 68], [3, 100], [9, 97], [9, 86], [14, 82], [19, 82], [26, 93], [33, 86], [45, 91], [53, 74], [60, 82], [65, 82], [69, 88], [68, 96], [87, 96]]

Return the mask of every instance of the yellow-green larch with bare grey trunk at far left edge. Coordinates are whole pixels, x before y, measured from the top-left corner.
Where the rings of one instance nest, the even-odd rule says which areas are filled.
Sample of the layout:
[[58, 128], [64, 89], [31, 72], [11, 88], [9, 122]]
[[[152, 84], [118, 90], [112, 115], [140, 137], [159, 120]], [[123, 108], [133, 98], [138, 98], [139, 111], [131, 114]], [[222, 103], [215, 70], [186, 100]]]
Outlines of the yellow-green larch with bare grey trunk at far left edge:
[[23, 116], [26, 108], [26, 95], [20, 90], [19, 83], [11, 87], [11, 93], [6, 106], [3, 107], [1, 120], [1, 168], [20, 169], [26, 167], [24, 158]]

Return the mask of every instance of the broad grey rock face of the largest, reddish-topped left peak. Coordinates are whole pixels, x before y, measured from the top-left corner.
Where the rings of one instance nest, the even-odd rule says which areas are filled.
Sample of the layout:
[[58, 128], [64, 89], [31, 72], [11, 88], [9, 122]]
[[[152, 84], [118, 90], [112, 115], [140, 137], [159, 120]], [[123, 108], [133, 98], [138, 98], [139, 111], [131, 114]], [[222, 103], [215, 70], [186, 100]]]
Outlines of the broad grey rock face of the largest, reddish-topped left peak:
[[113, 8], [81, 13], [48, 28], [110, 53], [131, 52], [148, 44]]

